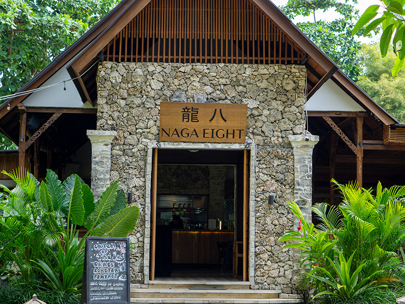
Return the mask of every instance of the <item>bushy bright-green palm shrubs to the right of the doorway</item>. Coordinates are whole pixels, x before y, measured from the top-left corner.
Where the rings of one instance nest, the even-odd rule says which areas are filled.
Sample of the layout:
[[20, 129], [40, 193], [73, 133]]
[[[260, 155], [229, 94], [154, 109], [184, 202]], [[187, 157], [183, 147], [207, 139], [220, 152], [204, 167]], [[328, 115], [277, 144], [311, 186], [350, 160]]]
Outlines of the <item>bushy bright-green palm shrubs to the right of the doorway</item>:
[[290, 203], [300, 225], [280, 239], [295, 242], [286, 248], [301, 249], [301, 264], [308, 268], [304, 276], [316, 289], [315, 297], [348, 300], [373, 286], [403, 286], [404, 265], [396, 251], [405, 245], [405, 186], [382, 189], [378, 183], [373, 195], [355, 183], [334, 182], [342, 204], [315, 204], [312, 211], [320, 221], [315, 227]]

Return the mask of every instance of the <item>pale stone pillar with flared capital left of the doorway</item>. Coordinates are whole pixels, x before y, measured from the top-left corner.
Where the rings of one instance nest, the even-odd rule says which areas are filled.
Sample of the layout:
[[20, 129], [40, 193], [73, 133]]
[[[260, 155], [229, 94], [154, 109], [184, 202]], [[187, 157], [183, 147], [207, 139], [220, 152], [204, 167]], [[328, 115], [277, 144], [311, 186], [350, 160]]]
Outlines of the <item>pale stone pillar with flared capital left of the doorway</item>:
[[87, 130], [92, 143], [92, 192], [98, 200], [110, 185], [111, 141], [116, 131]]

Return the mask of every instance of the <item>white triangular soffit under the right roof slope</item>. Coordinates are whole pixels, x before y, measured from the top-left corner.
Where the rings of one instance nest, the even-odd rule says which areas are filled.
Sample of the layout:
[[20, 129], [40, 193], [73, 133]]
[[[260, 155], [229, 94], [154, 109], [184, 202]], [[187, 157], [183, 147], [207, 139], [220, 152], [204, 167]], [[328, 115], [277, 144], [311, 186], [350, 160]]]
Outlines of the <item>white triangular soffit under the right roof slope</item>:
[[306, 103], [308, 111], [366, 111], [332, 79], [323, 84]]

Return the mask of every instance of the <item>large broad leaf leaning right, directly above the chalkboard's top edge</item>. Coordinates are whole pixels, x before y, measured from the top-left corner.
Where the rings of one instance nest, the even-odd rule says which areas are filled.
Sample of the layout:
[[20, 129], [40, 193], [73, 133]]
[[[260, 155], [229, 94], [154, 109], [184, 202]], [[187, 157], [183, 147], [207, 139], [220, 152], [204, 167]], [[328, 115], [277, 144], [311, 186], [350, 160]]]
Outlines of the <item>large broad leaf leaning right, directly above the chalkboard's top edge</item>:
[[127, 207], [107, 218], [105, 223], [92, 231], [92, 235], [103, 237], [126, 237], [135, 229], [139, 217], [137, 206]]

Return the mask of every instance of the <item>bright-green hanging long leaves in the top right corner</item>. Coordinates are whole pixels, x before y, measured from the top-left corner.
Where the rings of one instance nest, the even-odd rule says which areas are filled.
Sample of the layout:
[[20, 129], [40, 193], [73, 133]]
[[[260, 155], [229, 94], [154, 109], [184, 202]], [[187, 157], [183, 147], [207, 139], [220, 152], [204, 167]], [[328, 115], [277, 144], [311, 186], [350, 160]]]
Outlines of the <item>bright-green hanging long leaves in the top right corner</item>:
[[[403, 6], [404, 0], [381, 0], [381, 6], [370, 6], [358, 19], [354, 26], [353, 35], [363, 30], [363, 35], [367, 35], [371, 30], [376, 30], [381, 25], [382, 34], [380, 37], [380, 53], [385, 57], [389, 46], [393, 44], [395, 61], [391, 74], [396, 76], [405, 67], [405, 17]], [[382, 13], [378, 13], [380, 7], [384, 8]]]

